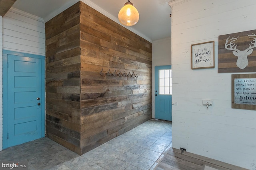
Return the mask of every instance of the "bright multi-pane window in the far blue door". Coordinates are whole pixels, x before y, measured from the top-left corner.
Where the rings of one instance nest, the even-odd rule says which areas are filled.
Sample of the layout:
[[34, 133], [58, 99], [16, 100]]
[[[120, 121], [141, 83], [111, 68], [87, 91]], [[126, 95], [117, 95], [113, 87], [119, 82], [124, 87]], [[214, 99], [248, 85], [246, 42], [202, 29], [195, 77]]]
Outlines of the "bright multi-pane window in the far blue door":
[[172, 95], [172, 70], [159, 70], [159, 94]]

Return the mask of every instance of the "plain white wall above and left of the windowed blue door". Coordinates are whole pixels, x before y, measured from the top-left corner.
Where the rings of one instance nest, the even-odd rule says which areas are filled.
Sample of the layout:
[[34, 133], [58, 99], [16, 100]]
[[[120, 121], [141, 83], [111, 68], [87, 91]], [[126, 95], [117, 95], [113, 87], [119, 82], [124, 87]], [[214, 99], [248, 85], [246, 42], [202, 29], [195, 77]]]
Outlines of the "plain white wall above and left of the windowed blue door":
[[[170, 28], [171, 29], [171, 28]], [[171, 65], [171, 38], [152, 43], [152, 117], [155, 118], [155, 66]]]

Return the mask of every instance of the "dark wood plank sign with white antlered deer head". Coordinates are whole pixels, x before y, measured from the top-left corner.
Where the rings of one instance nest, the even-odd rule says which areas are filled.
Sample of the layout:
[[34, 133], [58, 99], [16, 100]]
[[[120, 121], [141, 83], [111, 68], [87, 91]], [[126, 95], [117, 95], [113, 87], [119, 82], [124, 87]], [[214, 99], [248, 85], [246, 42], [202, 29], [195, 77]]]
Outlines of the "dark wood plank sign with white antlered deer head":
[[256, 72], [256, 30], [219, 36], [218, 72]]

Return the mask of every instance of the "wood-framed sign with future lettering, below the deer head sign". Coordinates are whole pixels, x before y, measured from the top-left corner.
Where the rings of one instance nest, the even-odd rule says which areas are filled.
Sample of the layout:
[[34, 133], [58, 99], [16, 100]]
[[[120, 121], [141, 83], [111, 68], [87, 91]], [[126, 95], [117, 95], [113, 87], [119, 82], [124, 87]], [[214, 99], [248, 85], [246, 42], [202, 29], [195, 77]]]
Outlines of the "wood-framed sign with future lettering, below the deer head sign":
[[232, 108], [256, 110], [256, 74], [232, 74]]

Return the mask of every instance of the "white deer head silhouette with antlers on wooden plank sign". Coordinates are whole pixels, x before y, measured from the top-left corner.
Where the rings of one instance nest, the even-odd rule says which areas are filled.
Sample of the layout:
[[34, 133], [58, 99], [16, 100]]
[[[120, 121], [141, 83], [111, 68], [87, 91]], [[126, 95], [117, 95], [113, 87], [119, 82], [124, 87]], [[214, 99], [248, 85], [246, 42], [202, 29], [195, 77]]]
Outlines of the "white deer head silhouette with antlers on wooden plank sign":
[[249, 43], [249, 47], [244, 51], [236, 49], [237, 45], [236, 43], [234, 43], [234, 41], [236, 41], [239, 37], [232, 37], [231, 39], [229, 39], [230, 37], [228, 37], [225, 43], [225, 49], [232, 50], [234, 56], [237, 56], [236, 66], [238, 66], [238, 68], [240, 69], [244, 69], [248, 66], [247, 57], [248, 55], [252, 54], [253, 49], [256, 47], [256, 35], [252, 33], [252, 35], [248, 36], [253, 40]]

